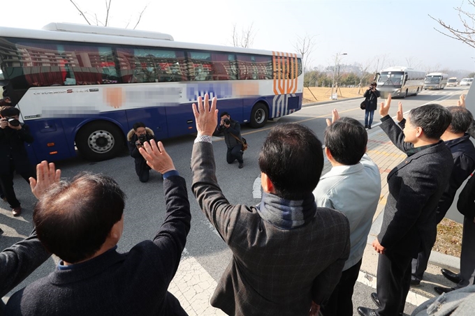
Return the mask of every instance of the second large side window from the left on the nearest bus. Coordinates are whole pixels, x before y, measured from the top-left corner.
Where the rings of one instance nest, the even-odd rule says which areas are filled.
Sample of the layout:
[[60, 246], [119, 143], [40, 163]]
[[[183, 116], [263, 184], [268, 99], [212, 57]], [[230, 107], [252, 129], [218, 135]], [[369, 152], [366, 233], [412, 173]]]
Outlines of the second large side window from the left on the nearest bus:
[[184, 52], [117, 48], [122, 82], [180, 82], [186, 81]]

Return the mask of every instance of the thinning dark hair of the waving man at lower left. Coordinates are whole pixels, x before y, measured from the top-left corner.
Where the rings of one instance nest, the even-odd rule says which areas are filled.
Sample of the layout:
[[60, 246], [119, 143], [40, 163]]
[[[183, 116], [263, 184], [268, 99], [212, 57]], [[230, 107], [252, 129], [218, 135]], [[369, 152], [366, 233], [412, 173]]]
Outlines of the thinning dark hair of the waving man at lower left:
[[122, 218], [125, 194], [101, 174], [79, 174], [72, 182], [54, 183], [33, 211], [43, 246], [68, 263], [89, 259]]

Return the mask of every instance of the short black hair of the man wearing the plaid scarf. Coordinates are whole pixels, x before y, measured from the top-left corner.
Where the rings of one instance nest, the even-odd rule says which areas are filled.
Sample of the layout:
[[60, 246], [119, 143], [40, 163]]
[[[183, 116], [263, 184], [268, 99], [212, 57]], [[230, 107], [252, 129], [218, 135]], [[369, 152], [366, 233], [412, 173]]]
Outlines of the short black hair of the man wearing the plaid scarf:
[[323, 169], [321, 142], [306, 126], [280, 124], [270, 130], [258, 163], [272, 181], [276, 195], [303, 200], [319, 183]]

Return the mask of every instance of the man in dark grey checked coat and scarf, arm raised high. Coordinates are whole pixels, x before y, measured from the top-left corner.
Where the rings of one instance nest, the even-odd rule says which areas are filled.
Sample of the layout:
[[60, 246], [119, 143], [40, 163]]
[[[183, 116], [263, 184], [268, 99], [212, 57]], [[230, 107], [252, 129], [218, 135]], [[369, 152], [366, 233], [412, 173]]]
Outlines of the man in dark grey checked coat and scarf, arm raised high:
[[316, 207], [312, 194], [323, 168], [321, 142], [300, 124], [272, 128], [258, 159], [261, 203], [232, 205], [215, 174], [216, 103], [210, 108], [206, 95], [204, 104], [193, 104], [198, 136], [191, 156], [193, 193], [233, 252], [211, 305], [228, 315], [316, 315], [350, 247], [346, 217]]

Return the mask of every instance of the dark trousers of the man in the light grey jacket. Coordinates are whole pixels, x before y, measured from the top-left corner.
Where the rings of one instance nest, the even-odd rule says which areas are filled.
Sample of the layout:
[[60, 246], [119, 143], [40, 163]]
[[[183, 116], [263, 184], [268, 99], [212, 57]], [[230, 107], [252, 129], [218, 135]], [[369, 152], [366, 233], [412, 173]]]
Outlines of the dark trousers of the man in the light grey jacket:
[[363, 259], [342, 272], [342, 277], [339, 278], [337, 287], [333, 290], [328, 303], [321, 306], [323, 316], [353, 315], [353, 301], [351, 301], [351, 297], [353, 296], [353, 287], [355, 287], [356, 280], [358, 280], [361, 262], [363, 262]]

